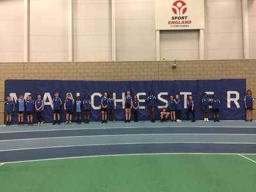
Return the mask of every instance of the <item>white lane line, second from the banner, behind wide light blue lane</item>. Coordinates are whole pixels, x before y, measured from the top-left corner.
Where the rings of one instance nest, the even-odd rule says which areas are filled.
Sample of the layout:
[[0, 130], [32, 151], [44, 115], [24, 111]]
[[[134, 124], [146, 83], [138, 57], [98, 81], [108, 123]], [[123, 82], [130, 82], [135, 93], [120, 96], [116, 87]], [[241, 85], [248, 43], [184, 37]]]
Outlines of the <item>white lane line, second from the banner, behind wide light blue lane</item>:
[[256, 134], [227, 134], [227, 133], [153, 133], [153, 134], [101, 134], [101, 135], [87, 135], [87, 136], [62, 136], [62, 137], [49, 137], [49, 138], [26, 138], [26, 139], [15, 139], [15, 140], [0, 140], [1, 142], [6, 142], [6, 141], [28, 141], [28, 140], [51, 140], [51, 139], [56, 139], [56, 138], [94, 138], [94, 137], [109, 137], [109, 136], [168, 136], [168, 135], [205, 135], [205, 136], [212, 136], [212, 135], [227, 135], [227, 136], [256, 136]]

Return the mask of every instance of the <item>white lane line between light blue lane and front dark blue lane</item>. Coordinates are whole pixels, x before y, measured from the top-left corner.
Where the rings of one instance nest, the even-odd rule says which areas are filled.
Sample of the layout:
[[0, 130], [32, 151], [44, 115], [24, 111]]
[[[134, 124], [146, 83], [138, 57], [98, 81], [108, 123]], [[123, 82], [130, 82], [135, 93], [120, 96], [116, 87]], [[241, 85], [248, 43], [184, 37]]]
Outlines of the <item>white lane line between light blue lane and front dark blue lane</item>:
[[62, 145], [62, 146], [52, 146], [52, 147], [31, 147], [31, 148], [13, 148], [0, 150], [0, 152], [9, 152], [17, 150], [35, 150], [35, 149], [45, 149], [45, 148], [69, 148], [69, 147], [92, 147], [92, 146], [106, 146], [106, 145], [149, 145], [149, 144], [239, 144], [239, 145], [256, 145], [256, 143], [236, 143], [236, 142], [132, 142], [132, 143], [99, 143], [99, 144], [86, 144], [86, 145]]

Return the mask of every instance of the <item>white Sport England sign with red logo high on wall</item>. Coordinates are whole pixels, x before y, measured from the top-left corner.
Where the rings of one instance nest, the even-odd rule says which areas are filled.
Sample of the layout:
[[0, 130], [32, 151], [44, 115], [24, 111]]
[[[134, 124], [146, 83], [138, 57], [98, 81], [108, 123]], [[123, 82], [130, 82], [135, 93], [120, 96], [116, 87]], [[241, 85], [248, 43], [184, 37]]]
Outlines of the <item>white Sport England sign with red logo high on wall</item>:
[[156, 30], [204, 29], [204, 0], [156, 0]]

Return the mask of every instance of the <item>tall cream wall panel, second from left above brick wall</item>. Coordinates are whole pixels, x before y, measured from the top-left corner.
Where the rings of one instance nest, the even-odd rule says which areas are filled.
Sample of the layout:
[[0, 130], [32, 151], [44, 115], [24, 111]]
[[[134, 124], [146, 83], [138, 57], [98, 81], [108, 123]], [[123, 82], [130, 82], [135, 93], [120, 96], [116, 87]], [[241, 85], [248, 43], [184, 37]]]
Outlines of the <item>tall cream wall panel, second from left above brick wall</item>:
[[67, 0], [30, 1], [29, 61], [67, 61]]

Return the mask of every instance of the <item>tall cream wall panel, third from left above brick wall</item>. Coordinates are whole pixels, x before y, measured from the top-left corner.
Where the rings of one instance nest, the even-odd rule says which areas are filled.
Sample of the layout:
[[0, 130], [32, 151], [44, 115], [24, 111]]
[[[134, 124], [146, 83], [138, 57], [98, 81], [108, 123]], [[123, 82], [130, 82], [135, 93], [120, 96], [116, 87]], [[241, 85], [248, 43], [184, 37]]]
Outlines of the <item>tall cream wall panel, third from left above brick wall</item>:
[[74, 0], [74, 60], [111, 61], [109, 0]]

